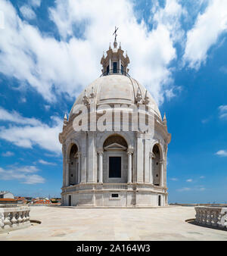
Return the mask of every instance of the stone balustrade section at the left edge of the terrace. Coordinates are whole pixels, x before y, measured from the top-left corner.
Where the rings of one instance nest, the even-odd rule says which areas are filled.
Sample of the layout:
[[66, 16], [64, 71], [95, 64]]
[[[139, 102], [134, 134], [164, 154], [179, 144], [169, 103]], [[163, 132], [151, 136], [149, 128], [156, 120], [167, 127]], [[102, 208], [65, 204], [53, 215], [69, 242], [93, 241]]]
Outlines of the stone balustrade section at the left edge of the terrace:
[[0, 232], [30, 226], [30, 207], [0, 207]]

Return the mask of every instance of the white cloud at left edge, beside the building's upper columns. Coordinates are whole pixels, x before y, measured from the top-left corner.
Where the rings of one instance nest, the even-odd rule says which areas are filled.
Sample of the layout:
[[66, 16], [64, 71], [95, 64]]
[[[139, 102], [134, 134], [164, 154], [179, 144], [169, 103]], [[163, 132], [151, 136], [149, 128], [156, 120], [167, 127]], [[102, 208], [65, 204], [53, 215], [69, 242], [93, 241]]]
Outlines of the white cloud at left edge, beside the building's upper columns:
[[33, 148], [39, 145], [48, 151], [61, 153], [61, 145], [58, 142], [58, 134], [62, 129], [62, 120], [51, 117], [52, 124], [48, 126], [35, 118], [22, 117], [17, 112], [8, 112], [0, 109], [0, 118], [23, 126], [0, 126], [0, 138], [23, 148]]

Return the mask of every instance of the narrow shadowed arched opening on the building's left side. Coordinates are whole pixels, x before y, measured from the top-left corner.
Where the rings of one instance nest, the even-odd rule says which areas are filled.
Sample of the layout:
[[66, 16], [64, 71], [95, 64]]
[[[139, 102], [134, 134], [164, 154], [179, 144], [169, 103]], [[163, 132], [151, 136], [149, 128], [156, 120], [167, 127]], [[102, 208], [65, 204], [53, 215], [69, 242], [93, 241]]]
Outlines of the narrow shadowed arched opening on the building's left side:
[[76, 153], [78, 152], [78, 148], [76, 144], [73, 144], [70, 149], [70, 185], [76, 185], [78, 183], [78, 166], [79, 161]]

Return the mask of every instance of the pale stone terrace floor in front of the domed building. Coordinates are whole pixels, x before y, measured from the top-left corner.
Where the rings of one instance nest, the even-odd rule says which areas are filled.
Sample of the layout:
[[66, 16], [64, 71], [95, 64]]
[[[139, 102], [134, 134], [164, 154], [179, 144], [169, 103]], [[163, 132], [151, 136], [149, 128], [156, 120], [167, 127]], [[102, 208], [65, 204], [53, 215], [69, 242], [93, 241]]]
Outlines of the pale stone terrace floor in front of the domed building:
[[227, 231], [185, 222], [194, 207], [55, 208], [33, 206], [25, 229], [1, 233], [3, 240], [225, 240]]

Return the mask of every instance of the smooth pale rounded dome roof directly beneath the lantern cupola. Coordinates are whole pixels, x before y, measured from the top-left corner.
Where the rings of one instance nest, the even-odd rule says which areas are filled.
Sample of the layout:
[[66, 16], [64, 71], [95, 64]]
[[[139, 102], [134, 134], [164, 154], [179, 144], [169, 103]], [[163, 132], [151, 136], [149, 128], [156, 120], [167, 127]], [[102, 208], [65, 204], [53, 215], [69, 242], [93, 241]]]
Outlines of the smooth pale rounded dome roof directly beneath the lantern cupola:
[[[93, 89], [92, 89], [93, 88]], [[141, 93], [142, 99], [145, 98], [146, 89], [144, 86], [141, 86], [135, 79], [129, 76], [123, 76], [120, 74], [117, 75], [109, 75], [109, 76], [101, 76], [94, 82], [92, 82], [86, 88], [86, 95], [89, 95], [94, 92], [95, 101], [97, 105], [102, 104], [135, 104], [135, 98], [137, 92]], [[85, 91], [76, 98], [76, 101], [73, 105], [83, 104], [83, 96], [85, 95]], [[157, 114], [161, 119], [160, 111], [157, 107], [154, 98], [152, 98], [151, 94], [147, 92], [146, 95], [149, 98], [148, 105], [154, 110], [154, 113]], [[70, 116], [73, 112], [73, 108], [70, 111]]]

